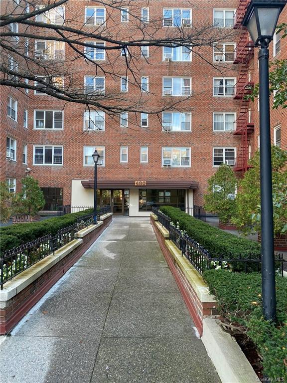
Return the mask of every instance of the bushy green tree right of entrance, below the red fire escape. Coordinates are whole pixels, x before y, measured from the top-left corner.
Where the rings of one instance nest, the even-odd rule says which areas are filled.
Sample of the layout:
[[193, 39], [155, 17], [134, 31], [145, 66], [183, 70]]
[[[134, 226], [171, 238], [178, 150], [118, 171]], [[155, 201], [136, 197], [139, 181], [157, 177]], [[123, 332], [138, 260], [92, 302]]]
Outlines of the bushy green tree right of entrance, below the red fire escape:
[[204, 195], [204, 208], [216, 213], [223, 223], [230, 222], [236, 211], [233, 197], [237, 188], [237, 180], [228, 165], [221, 165], [217, 172], [209, 178], [207, 194]]

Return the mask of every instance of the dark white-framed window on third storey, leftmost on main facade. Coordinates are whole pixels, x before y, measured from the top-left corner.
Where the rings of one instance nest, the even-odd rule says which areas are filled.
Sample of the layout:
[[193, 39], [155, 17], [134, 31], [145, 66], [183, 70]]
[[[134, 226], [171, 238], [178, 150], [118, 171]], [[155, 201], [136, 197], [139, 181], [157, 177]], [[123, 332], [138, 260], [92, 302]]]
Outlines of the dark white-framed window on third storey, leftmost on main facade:
[[63, 129], [63, 111], [34, 110], [34, 129]]

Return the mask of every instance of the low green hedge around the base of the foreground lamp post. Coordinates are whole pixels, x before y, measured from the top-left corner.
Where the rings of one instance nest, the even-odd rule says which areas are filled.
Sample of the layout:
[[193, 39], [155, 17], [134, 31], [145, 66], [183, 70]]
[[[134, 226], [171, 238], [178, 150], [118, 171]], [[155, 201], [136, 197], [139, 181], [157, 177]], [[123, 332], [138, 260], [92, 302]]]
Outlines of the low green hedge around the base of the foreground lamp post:
[[[207, 270], [203, 273], [209, 291], [231, 323], [240, 324], [263, 359], [264, 374], [273, 379], [287, 378], [287, 278], [277, 276], [277, 325], [262, 315], [261, 274]], [[283, 382], [283, 381], [281, 381]]]

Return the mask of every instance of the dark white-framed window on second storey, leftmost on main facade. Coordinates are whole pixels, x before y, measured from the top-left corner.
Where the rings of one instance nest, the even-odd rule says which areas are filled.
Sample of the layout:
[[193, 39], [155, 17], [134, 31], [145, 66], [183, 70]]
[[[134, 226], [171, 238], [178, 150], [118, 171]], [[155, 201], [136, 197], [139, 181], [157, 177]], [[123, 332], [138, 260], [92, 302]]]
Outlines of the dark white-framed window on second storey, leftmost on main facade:
[[33, 165], [63, 165], [63, 147], [34, 145]]

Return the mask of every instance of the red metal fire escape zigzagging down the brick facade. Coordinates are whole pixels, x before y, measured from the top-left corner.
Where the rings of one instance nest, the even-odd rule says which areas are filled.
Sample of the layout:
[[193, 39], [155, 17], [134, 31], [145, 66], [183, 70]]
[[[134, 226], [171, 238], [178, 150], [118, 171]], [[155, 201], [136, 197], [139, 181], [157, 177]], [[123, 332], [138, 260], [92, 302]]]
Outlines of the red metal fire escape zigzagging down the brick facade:
[[251, 134], [254, 131], [253, 119], [249, 113], [249, 100], [245, 100], [244, 97], [252, 91], [254, 86], [254, 83], [249, 78], [249, 62], [254, 54], [254, 45], [250, 40], [247, 28], [241, 25], [248, 3], [249, 0], [240, 0], [234, 25], [234, 28], [240, 31], [234, 60], [234, 64], [240, 65], [234, 98], [241, 100], [236, 120], [236, 131], [234, 132], [235, 135], [241, 136], [241, 140], [234, 171], [243, 173], [249, 168], [247, 164], [249, 160], [249, 143]]

